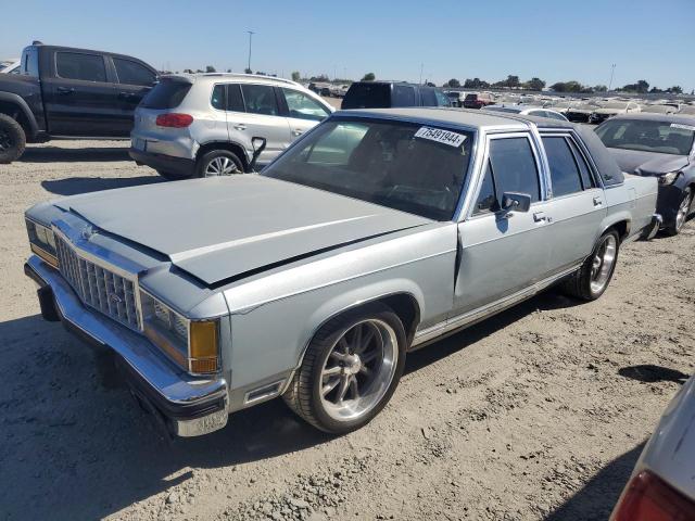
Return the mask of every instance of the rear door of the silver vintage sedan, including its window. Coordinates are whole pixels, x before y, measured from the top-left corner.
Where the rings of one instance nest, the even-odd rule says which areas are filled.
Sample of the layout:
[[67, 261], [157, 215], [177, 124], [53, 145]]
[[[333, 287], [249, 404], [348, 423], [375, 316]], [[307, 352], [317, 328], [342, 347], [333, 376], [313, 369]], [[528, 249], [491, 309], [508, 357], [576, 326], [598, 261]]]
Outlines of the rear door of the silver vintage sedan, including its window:
[[553, 274], [584, 260], [606, 216], [606, 198], [571, 132], [542, 134], [551, 174], [548, 260]]

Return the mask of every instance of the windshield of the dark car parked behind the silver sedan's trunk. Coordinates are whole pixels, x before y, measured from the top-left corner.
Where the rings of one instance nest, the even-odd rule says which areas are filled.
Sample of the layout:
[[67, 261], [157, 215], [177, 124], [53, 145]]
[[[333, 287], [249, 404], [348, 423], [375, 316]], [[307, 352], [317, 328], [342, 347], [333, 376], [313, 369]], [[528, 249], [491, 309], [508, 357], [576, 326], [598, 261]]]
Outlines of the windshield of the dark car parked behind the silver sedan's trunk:
[[609, 119], [596, 129], [596, 134], [612, 149], [688, 155], [695, 126], [648, 119]]

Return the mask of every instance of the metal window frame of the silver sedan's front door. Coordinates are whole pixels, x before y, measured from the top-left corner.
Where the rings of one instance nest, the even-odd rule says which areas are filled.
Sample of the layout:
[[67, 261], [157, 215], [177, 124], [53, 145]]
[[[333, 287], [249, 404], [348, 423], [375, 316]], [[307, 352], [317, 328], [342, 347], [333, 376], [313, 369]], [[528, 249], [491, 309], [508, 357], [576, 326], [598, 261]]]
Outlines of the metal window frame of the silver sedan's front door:
[[[488, 162], [490, 161], [490, 142], [494, 139], [513, 139], [513, 138], [526, 138], [529, 141], [529, 145], [531, 148], [531, 153], [533, 155], [533, 161], [535, 162], [535, 171], [539, 179], [539, 200], [531, 203], [531, 208], [544, 204], [551, 199], [552, 194], [549, 192], [549, 185], [547, 180], [548, 170], [547, 170], [547, 162], [545, 160], [544, 154], [542, 155], [539, 152], [539, 142], [540, 139], [535, 132], [533, 131], [525, 131], [525, 130], [515, 130], [515, 131], [500, 131], [500, 132], [490, 132], [482, 135], [480, 139], [482, 140], [483, 147], [480, 151], [479, 161], [476, 162], [476, 185], [472, 190], [470, 190], [471, 194], [467, 201], [466, 211], [463, 213], [463, 218], [458, 219], [458, 221], [464, 220], [473, 220], [473, 219], [484, 219], [490, 217], [495, 217], [495, 212], [486, 212], [478, 215], [473, 215], [476, 209], [476, 202], [480, 196], [480, 190], [483, 183], [483, 177], [485, 175], [485, 167]], [[493, 171], [494, 176], [494, 171]]]

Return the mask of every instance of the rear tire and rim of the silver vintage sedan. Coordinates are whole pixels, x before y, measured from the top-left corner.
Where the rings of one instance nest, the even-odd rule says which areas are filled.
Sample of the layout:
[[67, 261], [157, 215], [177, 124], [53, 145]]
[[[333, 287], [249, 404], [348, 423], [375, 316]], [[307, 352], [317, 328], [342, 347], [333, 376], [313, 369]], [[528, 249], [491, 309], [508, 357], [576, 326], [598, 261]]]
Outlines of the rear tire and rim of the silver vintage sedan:
[[620, 238], [616, 230], [608, 230], [594, 247], [592, 254], [584, 264], [565, 282], [563, 291], [582, 301], [591, 302], [604, 294], [618, 262]]

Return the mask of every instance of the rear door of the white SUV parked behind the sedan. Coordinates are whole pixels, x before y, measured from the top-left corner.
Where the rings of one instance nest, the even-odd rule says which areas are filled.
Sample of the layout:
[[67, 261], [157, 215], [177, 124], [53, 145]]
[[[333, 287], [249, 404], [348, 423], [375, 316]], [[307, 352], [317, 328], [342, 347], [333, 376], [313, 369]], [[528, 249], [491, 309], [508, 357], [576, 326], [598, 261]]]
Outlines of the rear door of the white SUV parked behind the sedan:
[[[229, 89], [233, 88], [232, 85], [229, 86]], [[253, 153], [251, 140], [265, 138], [266, 147], [258, 157], [258, 163], [269, 163], [290, 145], [292, 141], [290, 125], [280, 111], [280, 103], [273, 86], [239, 84], [239, 88], [243, 112], [238, 110], [227, 113], [229, 139], [242, 144], [251, 155]]]

